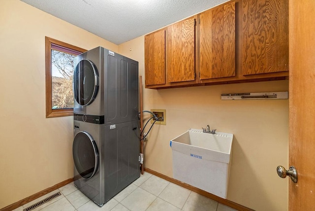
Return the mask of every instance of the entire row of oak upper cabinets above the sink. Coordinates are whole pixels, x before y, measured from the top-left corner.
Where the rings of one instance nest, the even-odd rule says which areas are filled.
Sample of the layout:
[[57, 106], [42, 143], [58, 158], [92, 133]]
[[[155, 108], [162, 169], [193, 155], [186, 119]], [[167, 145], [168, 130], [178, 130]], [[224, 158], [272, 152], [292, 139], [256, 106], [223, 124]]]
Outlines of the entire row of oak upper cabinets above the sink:
[[284, 80], [288, 44], [288, 0], [228, 1], [145, 36], [145, 85]]

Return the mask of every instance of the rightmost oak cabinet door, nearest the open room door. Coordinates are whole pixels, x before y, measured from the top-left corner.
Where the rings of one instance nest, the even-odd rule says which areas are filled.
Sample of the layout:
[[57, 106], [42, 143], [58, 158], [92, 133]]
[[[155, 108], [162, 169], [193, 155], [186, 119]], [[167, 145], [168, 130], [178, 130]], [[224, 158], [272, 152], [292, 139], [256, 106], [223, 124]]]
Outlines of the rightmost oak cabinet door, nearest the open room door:
[[288, 0], [243, 0], [243, 74], [288, 70]]

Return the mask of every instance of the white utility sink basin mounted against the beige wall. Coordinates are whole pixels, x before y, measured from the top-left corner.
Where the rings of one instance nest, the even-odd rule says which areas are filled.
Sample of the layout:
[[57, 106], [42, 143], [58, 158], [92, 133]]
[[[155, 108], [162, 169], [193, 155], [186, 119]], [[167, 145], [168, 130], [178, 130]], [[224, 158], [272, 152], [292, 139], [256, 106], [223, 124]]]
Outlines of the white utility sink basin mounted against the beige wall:
[[170, 141], [173, 177], [226, 199], [233, 134], [189, 129]]

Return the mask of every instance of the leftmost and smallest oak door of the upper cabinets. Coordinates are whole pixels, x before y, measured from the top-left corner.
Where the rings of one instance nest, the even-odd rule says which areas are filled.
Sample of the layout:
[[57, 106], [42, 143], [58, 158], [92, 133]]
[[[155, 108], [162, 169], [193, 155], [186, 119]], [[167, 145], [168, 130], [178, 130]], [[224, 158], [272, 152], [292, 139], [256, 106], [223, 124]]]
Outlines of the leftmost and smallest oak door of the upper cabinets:
[[165, 30], [144, 38], [145, 84], [165, 84]]

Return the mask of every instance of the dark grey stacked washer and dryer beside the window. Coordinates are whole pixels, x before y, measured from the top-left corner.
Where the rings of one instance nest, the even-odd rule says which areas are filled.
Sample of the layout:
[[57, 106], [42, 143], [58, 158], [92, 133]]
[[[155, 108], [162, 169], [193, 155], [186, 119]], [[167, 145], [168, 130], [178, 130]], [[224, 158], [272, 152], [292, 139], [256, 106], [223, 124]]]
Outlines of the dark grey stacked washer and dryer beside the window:
[[140, 176], [138, 62], [97, 47], [74, 67], [74, 185], [102, 206]]

